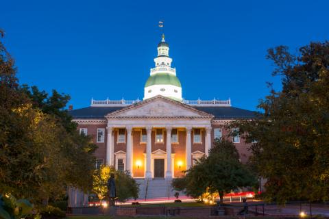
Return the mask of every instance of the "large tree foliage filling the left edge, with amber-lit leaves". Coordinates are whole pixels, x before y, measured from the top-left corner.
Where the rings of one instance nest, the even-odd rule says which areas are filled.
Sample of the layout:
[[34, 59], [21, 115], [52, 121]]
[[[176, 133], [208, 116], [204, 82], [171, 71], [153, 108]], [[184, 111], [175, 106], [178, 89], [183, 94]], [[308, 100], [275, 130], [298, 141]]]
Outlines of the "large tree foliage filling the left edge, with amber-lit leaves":
[[[14, 60], [0, 40], [0, 194], [39, 204], [67, 186], [93, 186], [95, 144], [64, 110], [69, 96], [19, 86]], [[83, 177], [82, 177], [83, 176]]]

